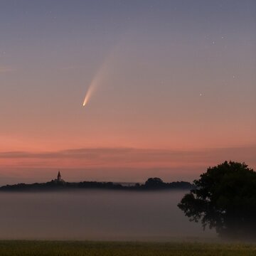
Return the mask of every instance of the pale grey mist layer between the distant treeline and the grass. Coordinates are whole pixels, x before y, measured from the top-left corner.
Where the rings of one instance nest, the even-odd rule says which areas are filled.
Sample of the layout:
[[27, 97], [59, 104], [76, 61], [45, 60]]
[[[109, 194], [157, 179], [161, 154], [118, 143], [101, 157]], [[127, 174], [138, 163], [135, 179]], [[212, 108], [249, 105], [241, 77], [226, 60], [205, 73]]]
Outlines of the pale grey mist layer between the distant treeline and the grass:
[[0, 193], [0, 239], [215, 238], [176, 206], [185, 192]]

